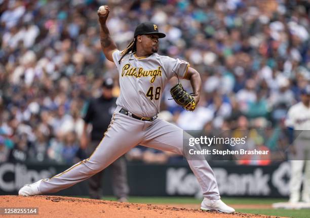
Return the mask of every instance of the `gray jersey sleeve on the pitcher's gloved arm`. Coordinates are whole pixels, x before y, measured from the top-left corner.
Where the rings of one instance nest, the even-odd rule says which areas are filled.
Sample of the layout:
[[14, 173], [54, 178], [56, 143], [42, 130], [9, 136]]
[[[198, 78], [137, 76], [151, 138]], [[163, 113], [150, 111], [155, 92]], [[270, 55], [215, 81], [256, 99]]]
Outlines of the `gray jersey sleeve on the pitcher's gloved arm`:
[[178, 75], [180, 79], [184, 78], [189, 68], [189, 63], [181, 59], [170, 58], [169, 67], [167, 69], [168, 78]]

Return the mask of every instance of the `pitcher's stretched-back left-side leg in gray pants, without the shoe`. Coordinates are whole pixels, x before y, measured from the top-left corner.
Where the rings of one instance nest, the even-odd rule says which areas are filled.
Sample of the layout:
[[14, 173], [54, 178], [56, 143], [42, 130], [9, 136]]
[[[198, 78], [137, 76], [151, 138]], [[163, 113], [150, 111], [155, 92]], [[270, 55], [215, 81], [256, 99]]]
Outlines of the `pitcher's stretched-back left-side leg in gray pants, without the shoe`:
[[41, 194], [58, 192], [90, 178], [136, 146], [141, 141], [141, 126], [128, 118], [116, 113], [94, 153], [51, 179], [43, 180], [38, 186]]

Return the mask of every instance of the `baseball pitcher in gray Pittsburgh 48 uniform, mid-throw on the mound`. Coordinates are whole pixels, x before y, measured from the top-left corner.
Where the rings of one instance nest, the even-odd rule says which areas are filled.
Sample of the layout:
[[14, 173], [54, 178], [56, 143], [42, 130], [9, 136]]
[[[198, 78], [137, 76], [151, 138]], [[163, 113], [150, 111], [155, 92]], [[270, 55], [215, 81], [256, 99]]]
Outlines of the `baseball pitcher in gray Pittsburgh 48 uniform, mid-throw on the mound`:
[[[105, 57], [114, 62], [120, 76], [121, 94], [117, 100], [111, 123], [93, 154], [51, 179], [25, 185], [19, 195], [32, 196], [58, 192], [86, 180], [101, 171], [115, 159], [138, 144], [175, 152], [183, 151], [183, 130], [157, 117], [163, 90], [173, 76], [190, 80], [194, 94], [186, 93], [180, 83], [171, 89], [172, 97], [186, 110], [195, 110], [200, 98], [201, 78], [189, 63], [157, 54], [159, 26], [145, 22], [139, 24], [128, 47], [119, 51], [113, 42], [106, 14], [98, 11], [101, 48]], [[234, 212], [220, 200], [213, 170], [206, 160], [188, 160], [188, 164], [203, 190], [203, 210]]]

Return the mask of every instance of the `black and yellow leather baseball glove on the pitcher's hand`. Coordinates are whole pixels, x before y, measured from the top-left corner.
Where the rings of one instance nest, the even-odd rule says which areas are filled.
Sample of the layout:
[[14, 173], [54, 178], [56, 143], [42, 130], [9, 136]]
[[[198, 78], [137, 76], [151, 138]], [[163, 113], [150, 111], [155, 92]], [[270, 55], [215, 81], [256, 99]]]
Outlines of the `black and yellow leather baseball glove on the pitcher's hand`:
[[193, 111], [196, 108], [196, 102], [193, 98], [193, 93], [188, 94], [180, 82], [173, 86], [170, 90], [171, 96], [176, 103], [181, 105], [184, 109], [188, 111]]

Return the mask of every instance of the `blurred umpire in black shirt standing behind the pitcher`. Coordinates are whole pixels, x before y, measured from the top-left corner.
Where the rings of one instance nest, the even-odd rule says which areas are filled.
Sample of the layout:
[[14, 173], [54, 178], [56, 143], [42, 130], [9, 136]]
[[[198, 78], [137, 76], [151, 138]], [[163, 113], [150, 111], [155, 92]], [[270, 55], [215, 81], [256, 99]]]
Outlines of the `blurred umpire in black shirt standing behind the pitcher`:
[[[113, 79], [106, 78], [102, 83], [102, 95], [99, 98], [91, 99], [89, 102], [84, 117], [85, 124], [81, 137], [81, 147], [86, 150], [88, 156], [90, 156], [97, 145], [99, 145], [103, 134], [110, 124], [113, 111], [116, 108], [117, 98], [112, 95], [113, 86]], [[91, 131], [91, 142], [89, 143], [87, 129], [90, 123], [93, 125], [93, 128]], [[127, 183], [125, 157], [122, 156], [118, 160], [115, 160], [109, 167], [112, 175], [113, 193], [119, 201], [126, 202], [129, 187]], [[102, 171], [89, 179], [89, 193], [91, 198], [101, 199], [101, 178]]]

